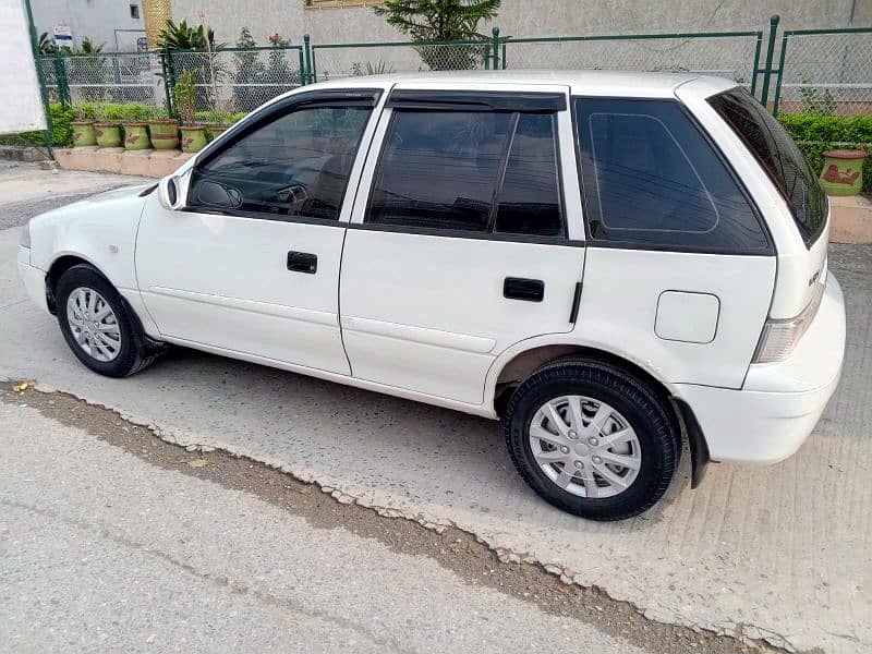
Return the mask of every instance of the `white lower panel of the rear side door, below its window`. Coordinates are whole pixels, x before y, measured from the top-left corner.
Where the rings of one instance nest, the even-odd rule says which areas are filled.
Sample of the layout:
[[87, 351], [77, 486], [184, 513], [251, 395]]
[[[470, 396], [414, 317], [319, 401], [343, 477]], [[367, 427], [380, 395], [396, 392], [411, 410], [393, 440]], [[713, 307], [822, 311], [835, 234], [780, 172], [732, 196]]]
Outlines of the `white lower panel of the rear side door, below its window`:
[[[566, 332], [584, 249], [349, 229], [342, 335], [355, 377], [470, 403], [509, 346]], [[507, 277], [541, 280], [541, 302]]]

